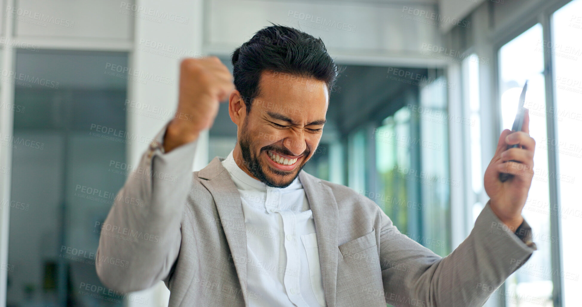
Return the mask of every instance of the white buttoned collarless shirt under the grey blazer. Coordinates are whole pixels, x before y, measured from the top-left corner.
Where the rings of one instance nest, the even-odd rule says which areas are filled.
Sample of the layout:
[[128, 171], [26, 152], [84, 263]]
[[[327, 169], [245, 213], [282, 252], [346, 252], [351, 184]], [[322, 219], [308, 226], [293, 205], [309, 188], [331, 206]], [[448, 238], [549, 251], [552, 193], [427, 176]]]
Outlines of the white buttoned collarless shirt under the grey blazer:
[[240, 193], [247, 233], [250, 306], [327, 306], [315, 223], [299, 176], [272, 188], [236, 165], [233, 151], [222, 161]]

